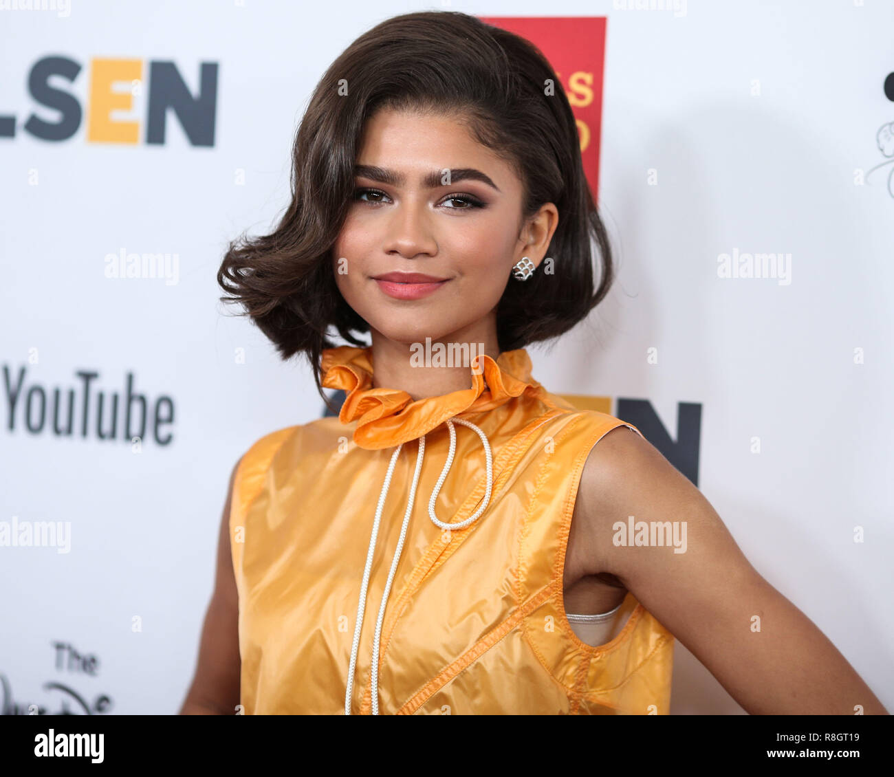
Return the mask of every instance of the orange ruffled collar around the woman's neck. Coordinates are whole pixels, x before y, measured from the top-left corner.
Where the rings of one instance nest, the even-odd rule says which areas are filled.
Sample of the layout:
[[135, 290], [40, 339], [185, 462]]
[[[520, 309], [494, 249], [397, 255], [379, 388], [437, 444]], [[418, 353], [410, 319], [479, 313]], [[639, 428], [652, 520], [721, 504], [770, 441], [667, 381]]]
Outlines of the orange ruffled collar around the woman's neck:
[[448, 418], [499, 407], [523, 393], [545, 393], [531, 376], [527, 350], [503, 351], [496, 360], [480, 354], [483, 374], [469, 367], [471, 387], [414, 401], [401, 389], [373, 387], [373, 350], [341, 345], [323, 351], [322, 384], [347, 397], [339, 412], [343, 424], [357, 420], [354, 442], [361, 448], [392, 448], [428, 434]]

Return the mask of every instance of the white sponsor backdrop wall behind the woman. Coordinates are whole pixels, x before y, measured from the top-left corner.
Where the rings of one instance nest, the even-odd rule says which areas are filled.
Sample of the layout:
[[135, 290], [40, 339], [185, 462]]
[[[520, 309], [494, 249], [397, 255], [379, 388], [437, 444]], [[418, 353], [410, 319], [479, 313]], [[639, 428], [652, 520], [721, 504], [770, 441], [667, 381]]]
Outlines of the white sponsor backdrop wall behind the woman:
[[[307, 367], [217, 302], [226, 241], [288, 203], [296, 123], [363, 31], [411, 10], [544, 6], [16, 5], [0, 3], [0, 532], [51, 521], [71, 534], [67, 553], [0, 546], [0, 701], [81, 713], [76, 694], [91, 712], [171, 714], [195, 668], [233, 463], [322, 413]], [[549, 7], [608, 18], [599, 193], [620, 277], [585, 325], [528, 349], [534, 375], [553, 393], [611, 397], [615, 414], [647, 400], [672, 438], [679, 403], [700, 405], [699, 487], [894, 710], [891, 165], [865, 177], [894, 163], [877, 140], [894, 122], [894, 3], [649, 5]], [[83, 110], [58, 141], [23, 127], [59, 119], [28, 87], [49, 56], [80, 65], [49, 80]], [[143, 80], [172, 61], [192, 93], [200, 64], [217, 63], [214, 145], [191, 145], [173, 114], [164, 144], [147, 143], [142, 89], [113, 114], [137, 122], [138, 141], [90, 142], [101, 58], [139, 61]], [[106, 277], [122, 251], [170, 254], [176, 277]], [[718, 276], [722, 254], [771, 252], [790, 254], [790, 283]], [[86, 437], [78, 372], [97, 373]], [[97, 391], [107, 414], [128, 374], [169, 443], [150, 425], [135, 452], [123, 407], [118, 439], [97, 437]], [[72, 436], [53, 433], [55, 388], [76, 389]], [[26, 403], [38, 429], [42, 394], [47, 418], [30, 431]], [[671, 712], [742, 710], [678, 644]]]

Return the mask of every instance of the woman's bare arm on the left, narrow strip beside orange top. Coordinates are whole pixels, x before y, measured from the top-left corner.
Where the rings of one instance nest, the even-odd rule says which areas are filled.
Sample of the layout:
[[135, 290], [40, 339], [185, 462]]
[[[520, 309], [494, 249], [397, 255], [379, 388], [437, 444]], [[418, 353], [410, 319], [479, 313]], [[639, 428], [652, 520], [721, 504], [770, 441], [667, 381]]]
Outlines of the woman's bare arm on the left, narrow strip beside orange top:
[[239, 704], [241, 661], [239, 655], [239, 595], [230, 555], [230, 502], [232, 469], [226, 504], [217, 539], [215, 590], [208, 604], [198, 648], [198, 665], [181, 715], [232, 715]]

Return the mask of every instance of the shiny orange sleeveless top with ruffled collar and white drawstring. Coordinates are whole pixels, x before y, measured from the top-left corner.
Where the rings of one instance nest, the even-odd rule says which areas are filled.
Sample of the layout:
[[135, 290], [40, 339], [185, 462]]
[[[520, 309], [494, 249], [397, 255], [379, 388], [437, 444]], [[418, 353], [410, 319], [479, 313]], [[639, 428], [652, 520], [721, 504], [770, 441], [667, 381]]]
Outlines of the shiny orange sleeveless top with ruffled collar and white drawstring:
[[321, 368], [339, 417], [262, 437], [233, 484], [245, 714], [668, 714], [671, 633], [628, 593], [589, 646], [562, 598], [587, 454], [636, 427], [547, 393], [524, 349], [417, 401], [373, 387], [371, 347]]

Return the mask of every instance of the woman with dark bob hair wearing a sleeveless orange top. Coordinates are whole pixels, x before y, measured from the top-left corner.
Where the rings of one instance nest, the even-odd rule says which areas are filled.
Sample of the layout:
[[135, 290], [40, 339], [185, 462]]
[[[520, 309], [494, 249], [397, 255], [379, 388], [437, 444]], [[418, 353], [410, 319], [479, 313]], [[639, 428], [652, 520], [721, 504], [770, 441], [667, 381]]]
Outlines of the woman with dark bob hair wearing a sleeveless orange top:
[[679, 638], [749, 713], [885, 713], [636, 427], [531, 375], [611, 285], [578, 143], [536, 48], [462, 13], [325, 73], [218, 280], [346, 399], [233, 470], [181, 712], [666, 714]]

